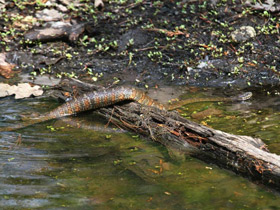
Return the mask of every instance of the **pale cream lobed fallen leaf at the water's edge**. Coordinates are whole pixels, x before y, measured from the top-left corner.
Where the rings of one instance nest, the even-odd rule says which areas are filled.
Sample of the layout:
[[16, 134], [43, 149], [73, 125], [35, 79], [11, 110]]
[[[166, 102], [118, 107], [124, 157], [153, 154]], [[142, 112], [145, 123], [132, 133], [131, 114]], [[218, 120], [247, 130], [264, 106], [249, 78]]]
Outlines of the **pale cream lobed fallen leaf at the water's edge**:
[[15, 95], [15, 99], [20, 99], [42, 94], [43, 90], [39, 85], [31, 86], [29, 83], [19, 83], [18, 85], [0, 84], [0, 97]]

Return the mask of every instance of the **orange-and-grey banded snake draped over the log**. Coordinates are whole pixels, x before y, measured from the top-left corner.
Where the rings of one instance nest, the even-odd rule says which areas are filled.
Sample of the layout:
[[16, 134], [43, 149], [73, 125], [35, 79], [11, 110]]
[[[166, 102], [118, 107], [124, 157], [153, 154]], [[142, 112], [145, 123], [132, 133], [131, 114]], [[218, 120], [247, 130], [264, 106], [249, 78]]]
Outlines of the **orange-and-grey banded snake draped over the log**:
[[121, 101], [137, 101], [138, 103], [146, 106], [158, 108], [160, 110], [172, 110], [181, 107], [187, 103], [201, 102], [201, 101], [234, 101], [234, 100], [247, 100], [252, 96], [252, 93], [248, 92], [244, 95], [232, 97], [232, 98], [201, 98], [201, 99], [186, 99], [176, 103], [175, 105], [165, 106], [147, 96], [143, 91], [130, 88], [130, 87], [117, 87], [107, 90], [88, 92], [71, 101], [68, 101], [54, 110], [39, 115], [37, 118], [32, 118], [13, 127], [0, 128], [0, 131], [12, 131], [20, 128], [24, 128], [35, 123], [44, 122], [51, 119], [61, 118], [70, 115], [76, 115], [83, 111], [91, 109], [97, 109], [101, 107], [110, 106], [112, 104]]

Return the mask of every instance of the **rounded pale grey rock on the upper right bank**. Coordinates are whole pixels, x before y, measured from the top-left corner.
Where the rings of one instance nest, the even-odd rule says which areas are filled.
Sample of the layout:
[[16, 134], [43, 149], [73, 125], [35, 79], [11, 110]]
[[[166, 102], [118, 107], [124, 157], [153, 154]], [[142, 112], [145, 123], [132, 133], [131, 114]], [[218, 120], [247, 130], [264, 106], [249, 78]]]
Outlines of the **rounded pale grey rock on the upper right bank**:
[[231, 38], [235, 42], [246, 42], [254, 37], [257, 33], [252, 26], [241, 26], [239, 29], [236, 29], [231, 33]]

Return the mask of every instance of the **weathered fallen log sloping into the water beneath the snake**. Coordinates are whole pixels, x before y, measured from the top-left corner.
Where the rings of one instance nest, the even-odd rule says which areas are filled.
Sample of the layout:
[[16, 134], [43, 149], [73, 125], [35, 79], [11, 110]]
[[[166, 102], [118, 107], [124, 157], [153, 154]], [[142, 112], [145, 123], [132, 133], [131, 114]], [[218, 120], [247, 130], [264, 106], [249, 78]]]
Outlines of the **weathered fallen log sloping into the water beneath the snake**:
[[[109, 122], [280, 191], [280, 156], [259, 138], [233, 135], [130, 102], [96, 110]], [[229, 122], [230, 123], [230, 122]]]

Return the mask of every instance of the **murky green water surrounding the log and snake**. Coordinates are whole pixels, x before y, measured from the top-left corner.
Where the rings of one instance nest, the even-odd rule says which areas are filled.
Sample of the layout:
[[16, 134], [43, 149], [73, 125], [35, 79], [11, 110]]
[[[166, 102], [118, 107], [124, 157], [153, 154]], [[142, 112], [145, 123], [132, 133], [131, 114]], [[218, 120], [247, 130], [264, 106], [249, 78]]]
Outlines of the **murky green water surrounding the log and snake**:
[[[185, 97], [193, 95], [203, 96]], [[242, 104], [197, 103], [182, 114], [219, 110], [195, 120], [261, 137], [280, 154], [279, 103], [279, 96], [262, 95]], [[56, 105], [2, 99], [0, 126], [16, 123], [21, 112]], [[91, 126], [105, 123], [97, 119]], [[1, 133], [0, 209], [280, 209], [279, 193], [229, 171], [171, 158], [166, 148], [135, 134], [97, 130], [53, 120]]]

